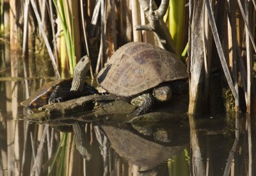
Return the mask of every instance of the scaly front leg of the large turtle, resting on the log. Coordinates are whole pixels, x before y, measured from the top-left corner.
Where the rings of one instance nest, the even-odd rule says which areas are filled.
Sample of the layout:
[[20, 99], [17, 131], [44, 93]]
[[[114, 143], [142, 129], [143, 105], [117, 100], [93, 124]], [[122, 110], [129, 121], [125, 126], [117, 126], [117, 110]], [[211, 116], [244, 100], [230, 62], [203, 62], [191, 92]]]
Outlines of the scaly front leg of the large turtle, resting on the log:
[[147, 113], [147, 111], [154, 104], [154, 97], [150, 93], [144, 93], [132, 99], [131, 104], [134, 106], [138, 106], [138, 108], [134, 112], [132, 112], [133, 116], [143, 115]]

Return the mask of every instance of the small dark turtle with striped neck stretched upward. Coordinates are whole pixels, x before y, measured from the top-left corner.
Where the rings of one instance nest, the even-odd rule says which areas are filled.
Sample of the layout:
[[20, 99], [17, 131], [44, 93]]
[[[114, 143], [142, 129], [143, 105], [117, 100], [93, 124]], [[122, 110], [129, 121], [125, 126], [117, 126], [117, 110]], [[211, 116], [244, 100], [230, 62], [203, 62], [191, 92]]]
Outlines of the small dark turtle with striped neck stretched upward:
[[98, 93], [95, 88], [84, 82], [86, 72], [88, 72], [89, 68], [90, 60], [88, 56], [84, 56], [77, 63], [73, 78], [46, 83], [33, 93], [28, 100], [25, 100], [21, 104], [30, 109], [35, 109], [45, 104], [63, 102], [65, 100]]

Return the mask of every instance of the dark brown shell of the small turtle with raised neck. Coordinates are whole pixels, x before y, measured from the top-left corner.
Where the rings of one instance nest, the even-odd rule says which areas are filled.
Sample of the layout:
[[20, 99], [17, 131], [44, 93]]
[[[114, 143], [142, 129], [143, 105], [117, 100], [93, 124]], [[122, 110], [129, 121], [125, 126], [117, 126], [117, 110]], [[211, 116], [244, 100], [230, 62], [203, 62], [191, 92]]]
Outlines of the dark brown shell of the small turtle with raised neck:
[[29, 99], [21, 102], [22, 106], [26, 106], [28, 108], [39, 108], [45, 104], [48, 104], [49, 97], [56, 88], [56, 86], [61, 85], [63, 88], [71, 88], [72, 78], [68, 79], [59, 79], [56, 81], [51, 81], [49, 83], [44, 84], [44, 86], [40, 87], [36, 92], [34, 92]]

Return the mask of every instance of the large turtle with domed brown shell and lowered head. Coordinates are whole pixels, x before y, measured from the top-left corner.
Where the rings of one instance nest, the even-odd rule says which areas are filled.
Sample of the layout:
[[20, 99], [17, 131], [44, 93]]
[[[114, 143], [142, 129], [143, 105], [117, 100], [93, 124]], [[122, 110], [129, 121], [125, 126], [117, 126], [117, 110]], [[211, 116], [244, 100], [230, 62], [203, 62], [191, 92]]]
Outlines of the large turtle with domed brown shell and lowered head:
[[177, 80], [187, 78], [186, 66], [175, 54], [151, 44], [130, 42], [111, 56], [97, 80], [106, 92], [131, 98], [131, 104], [138, 106], [133, 113], [137, 116], [146, 113], [154, 99], [169, 100], [172, 92], [183, 87], [180, 83], [185, 83]]

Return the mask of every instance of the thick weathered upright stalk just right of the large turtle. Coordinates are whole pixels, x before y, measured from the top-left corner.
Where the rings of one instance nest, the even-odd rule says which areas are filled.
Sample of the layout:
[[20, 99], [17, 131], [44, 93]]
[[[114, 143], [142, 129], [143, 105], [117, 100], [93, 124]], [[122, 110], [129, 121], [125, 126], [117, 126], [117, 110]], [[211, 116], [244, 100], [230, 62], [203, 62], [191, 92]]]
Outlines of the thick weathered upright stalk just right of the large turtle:
[[190, 86], [189, 86], [189, 114], [194, 114], [196, 106], [198, 106], [198, 99], [201, 91], [199, 90], [199, 83], [201, 71], [204, 61], [204, 2], [190, 1], [190, 15], [189, 20], [191, 26], [189, 27], [189, 51], [190, 62], [188, 69], [191, 73]]

